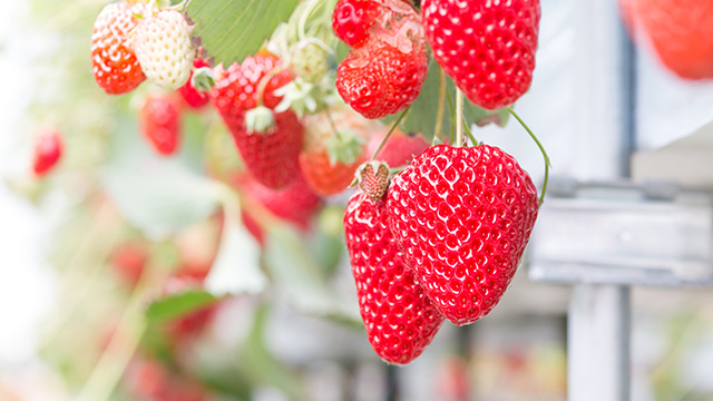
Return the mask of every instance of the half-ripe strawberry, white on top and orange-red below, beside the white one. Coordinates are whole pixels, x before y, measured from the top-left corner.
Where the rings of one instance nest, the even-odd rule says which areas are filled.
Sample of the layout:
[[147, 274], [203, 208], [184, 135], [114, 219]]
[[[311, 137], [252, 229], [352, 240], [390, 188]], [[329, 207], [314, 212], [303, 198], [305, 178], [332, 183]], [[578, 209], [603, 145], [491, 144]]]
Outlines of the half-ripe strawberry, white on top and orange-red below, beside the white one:
[[146, 4], [126, 1], [107, 4], [94, 23], [91, 33], [91, 71], [97, 84], [109, 95], [126, 94], [146, 76], [129, 45], [131, 32]]

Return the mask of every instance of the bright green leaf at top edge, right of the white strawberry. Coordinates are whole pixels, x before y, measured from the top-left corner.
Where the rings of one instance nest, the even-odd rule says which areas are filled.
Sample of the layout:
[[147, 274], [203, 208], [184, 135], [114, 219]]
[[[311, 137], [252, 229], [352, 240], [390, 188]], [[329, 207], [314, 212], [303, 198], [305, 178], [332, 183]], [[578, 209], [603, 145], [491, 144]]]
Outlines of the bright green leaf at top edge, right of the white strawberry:
[[286, 21], [299, 0], [193, 0], [188, 17], [194, 37], [216, 62], [242, 62], [260, 50], [280, 22]]

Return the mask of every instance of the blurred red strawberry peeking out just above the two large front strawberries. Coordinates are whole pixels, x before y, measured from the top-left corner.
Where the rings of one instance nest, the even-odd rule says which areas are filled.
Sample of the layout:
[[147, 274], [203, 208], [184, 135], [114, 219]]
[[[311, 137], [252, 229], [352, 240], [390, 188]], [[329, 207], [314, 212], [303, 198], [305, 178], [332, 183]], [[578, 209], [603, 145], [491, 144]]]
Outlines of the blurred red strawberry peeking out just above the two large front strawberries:
[[[379, 148], [379, 144], [383, 140], [388, 130], [382, 129], [381, 133], [374, 135], [369, 141], [368, 155], [373, 155]], [[403, 134], [400, 129], [395, 129], [391, 133], [387, 143], [377, 155], [377, 160], [384, 162], [389, 167], [401, 167], [411, 163], [413, 157], [420, 155], [426, 150], [430, 144], [423, 138], [421, 134]]]

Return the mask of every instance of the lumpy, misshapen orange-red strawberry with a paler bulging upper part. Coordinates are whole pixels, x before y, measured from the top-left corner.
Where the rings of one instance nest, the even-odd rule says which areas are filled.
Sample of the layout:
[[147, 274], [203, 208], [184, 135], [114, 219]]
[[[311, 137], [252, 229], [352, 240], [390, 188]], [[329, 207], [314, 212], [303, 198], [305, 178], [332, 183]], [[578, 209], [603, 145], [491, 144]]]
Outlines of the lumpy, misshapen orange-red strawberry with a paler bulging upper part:
[[336, 69], [336, 89], [354, 110], [381, 118], [416, 100], [428, 71], [418, 12], [401, 0], [374, 0], [377, 21], [368, 39]]

